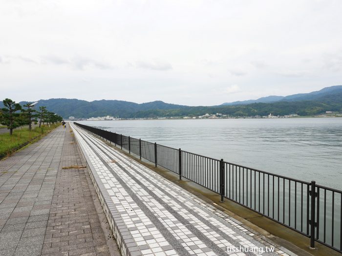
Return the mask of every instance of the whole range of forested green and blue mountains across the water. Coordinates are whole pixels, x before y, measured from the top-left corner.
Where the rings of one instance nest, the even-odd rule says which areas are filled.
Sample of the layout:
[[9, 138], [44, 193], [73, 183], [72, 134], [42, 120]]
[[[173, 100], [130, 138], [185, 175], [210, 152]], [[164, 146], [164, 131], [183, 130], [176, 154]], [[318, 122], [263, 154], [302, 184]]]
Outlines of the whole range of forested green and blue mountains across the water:
[[[13, 98], [13, 100], [15, 100]], [[21, 105], [26, 101], [20, 102]], [[342, 85], [325, 87], [320, 91], [295, 94], [286, 97], [268, 96], [245, 101], [223, 103], [218, 106], [184, 106], [153, 101], [147, 103], [134, 103], [122, 100], [94, 100], [50, 98], [41, 99], [35, 108], [46, 106], [48, 111], [68, 118], [90, 118], [114, 116], [120, 118], [155, 118], [155, 117], [181, 117], [200, 116], [206, 113], [221, 113], [233, 117], [265, 116], [298, 114], [312, 116], [325, 113], [325, 111], [342, 112]], [[0, 107], [3, 107], [0, 101]]]

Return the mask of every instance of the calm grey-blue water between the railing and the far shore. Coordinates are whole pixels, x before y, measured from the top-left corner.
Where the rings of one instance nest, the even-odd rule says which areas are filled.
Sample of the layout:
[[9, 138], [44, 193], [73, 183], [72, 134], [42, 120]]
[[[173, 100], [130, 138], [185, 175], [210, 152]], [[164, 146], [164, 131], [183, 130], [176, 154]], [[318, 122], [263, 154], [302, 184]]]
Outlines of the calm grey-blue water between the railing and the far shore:
[[342, 118], [80, 123], [342, 190]]

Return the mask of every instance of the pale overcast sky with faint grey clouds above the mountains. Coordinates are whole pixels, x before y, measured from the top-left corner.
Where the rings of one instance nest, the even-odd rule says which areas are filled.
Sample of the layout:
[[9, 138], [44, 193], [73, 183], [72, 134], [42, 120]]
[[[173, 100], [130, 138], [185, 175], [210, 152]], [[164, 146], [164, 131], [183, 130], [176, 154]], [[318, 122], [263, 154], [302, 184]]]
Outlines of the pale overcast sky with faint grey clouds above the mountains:
[[184, 105], [342, 84], [341, 0], [0, 0], [0, 96]]

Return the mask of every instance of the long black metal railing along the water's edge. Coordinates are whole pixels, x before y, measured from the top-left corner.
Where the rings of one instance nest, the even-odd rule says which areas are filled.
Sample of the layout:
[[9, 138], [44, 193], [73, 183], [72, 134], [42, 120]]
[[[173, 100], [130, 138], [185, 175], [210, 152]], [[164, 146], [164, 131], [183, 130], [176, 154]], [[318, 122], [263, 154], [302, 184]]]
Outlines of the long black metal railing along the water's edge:
[[157, 143], [76, 125], [342, 253], [342, 191]]

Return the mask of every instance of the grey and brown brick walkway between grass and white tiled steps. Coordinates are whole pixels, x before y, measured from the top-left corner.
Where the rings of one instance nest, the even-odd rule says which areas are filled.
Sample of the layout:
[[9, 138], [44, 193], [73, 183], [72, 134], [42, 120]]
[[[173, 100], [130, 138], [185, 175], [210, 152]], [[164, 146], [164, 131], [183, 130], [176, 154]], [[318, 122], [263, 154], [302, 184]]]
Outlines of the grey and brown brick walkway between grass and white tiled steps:
[[109, 255], [94, 188], [77, 166], [85, 163], [62, 127], [0, 161], [0, 256]]

